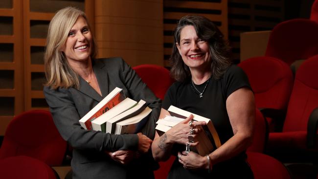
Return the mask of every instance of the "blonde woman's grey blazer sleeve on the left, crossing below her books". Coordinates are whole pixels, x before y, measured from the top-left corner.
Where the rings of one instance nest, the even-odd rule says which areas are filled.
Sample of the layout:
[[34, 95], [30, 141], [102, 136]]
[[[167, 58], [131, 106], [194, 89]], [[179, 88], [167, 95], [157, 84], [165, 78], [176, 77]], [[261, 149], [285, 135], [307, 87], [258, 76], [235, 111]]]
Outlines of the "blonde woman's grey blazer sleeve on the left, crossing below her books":
[[72, 147], [99, 152], [137, 150], [136, 134], [114, 135], [82, 128], [69, 89], [53, 90], [45, 87], [44, 94], [58, 131]]

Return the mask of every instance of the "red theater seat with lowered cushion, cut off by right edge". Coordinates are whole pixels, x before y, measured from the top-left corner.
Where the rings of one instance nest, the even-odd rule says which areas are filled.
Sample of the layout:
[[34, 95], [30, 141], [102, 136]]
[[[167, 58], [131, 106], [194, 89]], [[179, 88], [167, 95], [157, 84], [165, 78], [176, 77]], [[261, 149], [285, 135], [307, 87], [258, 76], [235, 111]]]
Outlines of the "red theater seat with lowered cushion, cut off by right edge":
[[[318, 55], [296, 71], [293, 91], [281, 133], [270, 133], [268, 154], [286, 162], [317, 158]], [[316, 161], [317, 162], [317, 161]]]

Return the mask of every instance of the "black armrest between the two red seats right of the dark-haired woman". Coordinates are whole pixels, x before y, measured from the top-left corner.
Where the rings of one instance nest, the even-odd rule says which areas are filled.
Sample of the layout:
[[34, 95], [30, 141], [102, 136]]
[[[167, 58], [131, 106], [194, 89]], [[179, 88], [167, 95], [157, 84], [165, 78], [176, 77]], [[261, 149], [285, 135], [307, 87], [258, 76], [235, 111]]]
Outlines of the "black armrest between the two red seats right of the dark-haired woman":
[[273, 122], [275, 124], [275, 132], [281, 132], [283, 129], [285, 117], [286, 117], [286, 110], [278, 110], [273, 108], [259, 108], [259, 111], [262, 112], [262, 114], [265, 117], [269, 117], [273, 119]]

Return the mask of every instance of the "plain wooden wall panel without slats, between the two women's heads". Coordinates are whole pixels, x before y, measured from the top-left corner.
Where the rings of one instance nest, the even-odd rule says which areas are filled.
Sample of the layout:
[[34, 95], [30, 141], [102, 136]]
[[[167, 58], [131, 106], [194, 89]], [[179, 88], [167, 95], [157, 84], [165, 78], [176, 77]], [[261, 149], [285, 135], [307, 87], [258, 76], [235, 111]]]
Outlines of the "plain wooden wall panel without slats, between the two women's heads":
[[98, 57], [163, 66], [162, 0], [95, 0]]

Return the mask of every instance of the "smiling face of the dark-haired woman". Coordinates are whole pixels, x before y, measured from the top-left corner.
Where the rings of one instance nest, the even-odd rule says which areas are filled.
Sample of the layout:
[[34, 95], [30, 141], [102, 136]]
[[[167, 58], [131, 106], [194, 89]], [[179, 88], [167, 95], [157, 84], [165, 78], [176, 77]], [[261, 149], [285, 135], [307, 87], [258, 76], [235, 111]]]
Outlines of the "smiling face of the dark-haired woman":
[[192, 25], [186, 25], [180, 33], [180, 44], [176, 43], [186, 66], [191, 69], [205, 70], [210, 63], [208, 42], [200, 39]]

